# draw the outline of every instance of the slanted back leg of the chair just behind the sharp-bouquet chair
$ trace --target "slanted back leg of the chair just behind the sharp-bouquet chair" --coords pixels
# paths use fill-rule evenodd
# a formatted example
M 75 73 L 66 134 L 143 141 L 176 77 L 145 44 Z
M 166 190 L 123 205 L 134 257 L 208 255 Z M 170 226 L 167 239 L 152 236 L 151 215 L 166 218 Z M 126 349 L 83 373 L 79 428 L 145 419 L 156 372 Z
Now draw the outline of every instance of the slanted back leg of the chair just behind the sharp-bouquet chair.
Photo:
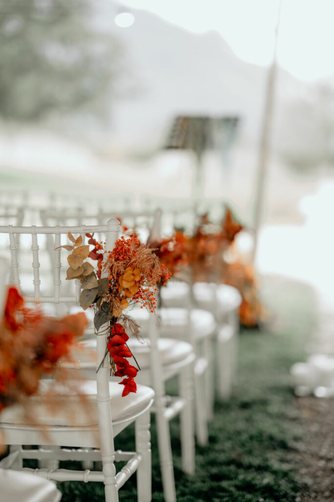
M 155 400 L 156 425 L 162 485 L 165 502 L 176 502 L 172 448 L 170 444 L 169 421 L 164 416 L 164 398 Z

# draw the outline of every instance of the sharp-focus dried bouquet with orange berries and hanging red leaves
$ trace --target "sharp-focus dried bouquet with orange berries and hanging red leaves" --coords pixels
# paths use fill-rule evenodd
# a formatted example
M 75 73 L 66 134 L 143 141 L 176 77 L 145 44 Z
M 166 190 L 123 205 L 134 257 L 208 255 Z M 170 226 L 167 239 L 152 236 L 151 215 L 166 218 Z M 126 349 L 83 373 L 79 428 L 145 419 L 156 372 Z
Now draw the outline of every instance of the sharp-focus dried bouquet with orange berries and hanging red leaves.
M 106 353 L 99 367 L 109 354 L 111 374 L 124 377 L 120 384 L 124 385 L 122 396 L 126 396 L 136 392 L 134 378 L 140 368 L 136 360 L 137 367 L 129 363 L 128 358 L 133 354 L 126 343 L 129 339 L 126 331 L 138 336 L 139 326 L 124 311 L 139 304 L 140 308 L 154 312 L 156 286 L 160 282 L 166 284 L 170 273 L 154 249 L 140 243 L 135 234 L 119 238 L 111 252 L 104 249 L 105 243 L 98 242 L 94 234 L 86 236 L 88 245 L 83 245 L 82 237 L 76 239 L 69 233 L 72 245 L 61 246 L 72 251 L 68 257 L 67 279 L 80 280 L 80 304 L 84 310 L 94 308 L 96 330 L 110 321 Z M 97 261 L 96 269 L 87 259 Z M 106 277 L 101 278 L 102 272 Z

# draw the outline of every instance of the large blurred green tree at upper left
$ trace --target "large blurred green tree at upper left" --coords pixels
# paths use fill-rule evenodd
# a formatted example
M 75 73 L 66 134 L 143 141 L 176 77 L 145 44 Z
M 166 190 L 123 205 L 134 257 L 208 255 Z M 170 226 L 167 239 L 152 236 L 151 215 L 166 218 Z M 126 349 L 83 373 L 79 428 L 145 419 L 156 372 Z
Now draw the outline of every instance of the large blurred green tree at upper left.
M 88 0 L 0 0 L 0 117 L 106 113 L 120 48 L 94 26 Z

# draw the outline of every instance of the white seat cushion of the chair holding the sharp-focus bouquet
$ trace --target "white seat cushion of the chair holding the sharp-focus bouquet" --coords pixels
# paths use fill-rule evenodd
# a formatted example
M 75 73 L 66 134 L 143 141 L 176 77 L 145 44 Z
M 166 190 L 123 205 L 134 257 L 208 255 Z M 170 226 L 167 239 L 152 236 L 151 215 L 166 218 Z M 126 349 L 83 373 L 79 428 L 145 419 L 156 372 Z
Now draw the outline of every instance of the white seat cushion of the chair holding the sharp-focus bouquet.
M 109 383 L 113 422 L 126 420 L 144 410 L 154 391 L 137 385 L 137 392 L 122 397 L 123 386 Z M 80 393 L 80 395 L 79 395 Z M 29 406 L 11 406 L 0 414 L 2 424 L 84 427 L 97 425 L 96 381 L 69 381 L 65 386 L 55 380 L 41 380 L 39 394 L 29 398 Z M 1 426 L 0 426 L 1 428 Z

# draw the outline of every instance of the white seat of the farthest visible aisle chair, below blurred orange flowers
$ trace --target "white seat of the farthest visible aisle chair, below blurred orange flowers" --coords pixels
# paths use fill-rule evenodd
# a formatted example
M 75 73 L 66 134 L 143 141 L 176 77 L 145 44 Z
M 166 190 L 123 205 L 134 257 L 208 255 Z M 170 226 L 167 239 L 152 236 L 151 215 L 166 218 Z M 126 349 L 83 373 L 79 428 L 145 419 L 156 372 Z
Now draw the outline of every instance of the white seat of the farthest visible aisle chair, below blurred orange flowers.
M 193 285 L 194 299 L 197 305 L 221 314 L 227 314 L 239 308 L 242 298 L 239 291 L 227 284 L 197 282 Z

